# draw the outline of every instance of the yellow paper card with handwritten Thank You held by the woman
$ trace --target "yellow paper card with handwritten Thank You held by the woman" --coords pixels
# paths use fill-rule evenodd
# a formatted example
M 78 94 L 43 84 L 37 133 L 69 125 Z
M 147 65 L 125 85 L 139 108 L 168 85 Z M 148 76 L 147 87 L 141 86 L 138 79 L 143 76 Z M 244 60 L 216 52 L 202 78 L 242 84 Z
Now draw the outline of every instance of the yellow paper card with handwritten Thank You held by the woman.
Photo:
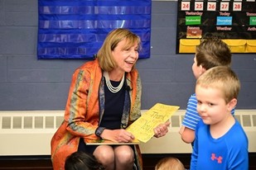
M 138 120 L 129 125 L 126 130 L 132 133 L 136 139 L 146 143 L 154 135 L 154 128 L 165 123 L 171 118 L 180 106 L 170 106 L 157 103 L 146 111 Z

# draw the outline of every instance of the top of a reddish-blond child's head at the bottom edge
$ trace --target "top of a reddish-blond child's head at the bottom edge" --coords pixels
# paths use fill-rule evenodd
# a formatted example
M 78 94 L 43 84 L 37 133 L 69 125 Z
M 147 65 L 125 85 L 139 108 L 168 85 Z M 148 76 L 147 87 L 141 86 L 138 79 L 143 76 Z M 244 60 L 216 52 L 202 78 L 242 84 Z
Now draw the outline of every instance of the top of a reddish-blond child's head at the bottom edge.
M 155 170 L 185 170 L 185 168 L 178 158 L 167 157 L 158 161 Z

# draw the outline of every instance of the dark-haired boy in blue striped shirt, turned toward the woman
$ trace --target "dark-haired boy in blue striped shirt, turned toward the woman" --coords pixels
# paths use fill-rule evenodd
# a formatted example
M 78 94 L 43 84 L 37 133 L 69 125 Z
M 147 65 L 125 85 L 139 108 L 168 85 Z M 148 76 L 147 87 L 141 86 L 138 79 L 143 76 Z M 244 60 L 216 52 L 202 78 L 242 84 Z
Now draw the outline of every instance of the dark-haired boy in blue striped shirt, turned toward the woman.
M 218 38 L 209 38 L 200 41 L 196 46 L 196 54 L 192 71 L 195 78 L 205 73 L 207 69 L 215 66 L 230 66 L 231 52 L 229 46 Z M 195 139 L 195 129 L 201 119 L 196 111 L 196 94 L 192 94 L 186 107 L 186 114 L 181 125 L 181 139 L 187 144 L 193 143 Z M 232 111 L 234 115 L 234 110 Z

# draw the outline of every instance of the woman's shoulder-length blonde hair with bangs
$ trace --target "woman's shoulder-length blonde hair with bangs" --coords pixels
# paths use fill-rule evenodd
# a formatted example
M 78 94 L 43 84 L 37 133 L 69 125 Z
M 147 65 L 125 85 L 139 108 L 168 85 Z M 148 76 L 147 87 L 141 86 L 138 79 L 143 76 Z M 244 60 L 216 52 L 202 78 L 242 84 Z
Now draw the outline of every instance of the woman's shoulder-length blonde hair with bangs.
M 99 66 L 104 71 L 111 71 L 112 69 L 116 68 L 117 64 L 112 56 L 112 51 L 122 40 L 126 40 L 126 45 L 123 47 L 123 49 L 129 49 L 134 45 L 134 43 L 138 43 L 138 49 L 141 49 L 140 37 L 135 35 L 133 32 L 123 28 L 118 28 L 109 32 L 109 35 L 107 35 L 106 39 L 104 40 L 104 44 L 101 46 L 97 54 Z

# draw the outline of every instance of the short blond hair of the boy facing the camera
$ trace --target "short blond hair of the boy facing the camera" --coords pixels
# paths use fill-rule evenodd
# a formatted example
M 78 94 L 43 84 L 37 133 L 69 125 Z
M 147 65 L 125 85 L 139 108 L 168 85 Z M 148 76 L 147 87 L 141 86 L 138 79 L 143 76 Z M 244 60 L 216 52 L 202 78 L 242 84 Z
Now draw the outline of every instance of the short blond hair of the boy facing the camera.
M 224 94 L 226 103 L 239 96 L 240 82 L 234 71 L 226 66 L 210 68 L 196 81 L 196 86 L 214 87 L 220 89 Z

